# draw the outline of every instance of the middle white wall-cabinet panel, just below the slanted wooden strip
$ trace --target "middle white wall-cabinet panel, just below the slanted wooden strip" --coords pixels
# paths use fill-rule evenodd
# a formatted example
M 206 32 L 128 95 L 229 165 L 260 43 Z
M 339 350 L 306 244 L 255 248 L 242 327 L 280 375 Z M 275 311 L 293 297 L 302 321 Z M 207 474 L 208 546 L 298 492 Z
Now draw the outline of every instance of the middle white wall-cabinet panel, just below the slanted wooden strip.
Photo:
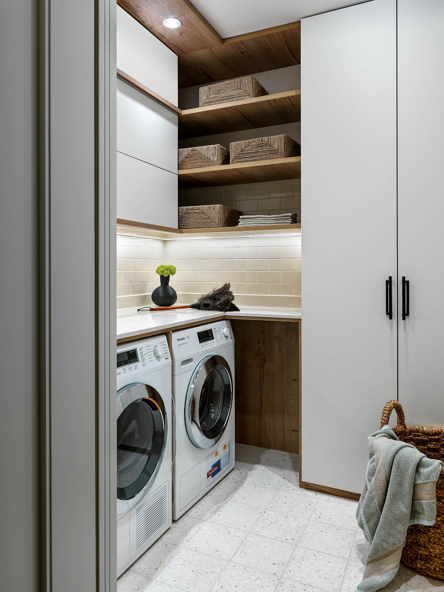
M 177 173 L 178 116 L 117 81 L 117 150 Z

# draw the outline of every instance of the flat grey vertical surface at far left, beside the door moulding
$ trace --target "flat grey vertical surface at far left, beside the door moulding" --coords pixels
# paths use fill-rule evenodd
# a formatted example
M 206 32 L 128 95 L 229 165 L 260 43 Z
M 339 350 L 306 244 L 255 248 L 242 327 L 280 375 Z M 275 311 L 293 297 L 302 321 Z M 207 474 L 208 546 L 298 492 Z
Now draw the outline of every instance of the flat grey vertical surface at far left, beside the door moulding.
M 0 18 L 0 588 L 38 590 L 37 4 Z

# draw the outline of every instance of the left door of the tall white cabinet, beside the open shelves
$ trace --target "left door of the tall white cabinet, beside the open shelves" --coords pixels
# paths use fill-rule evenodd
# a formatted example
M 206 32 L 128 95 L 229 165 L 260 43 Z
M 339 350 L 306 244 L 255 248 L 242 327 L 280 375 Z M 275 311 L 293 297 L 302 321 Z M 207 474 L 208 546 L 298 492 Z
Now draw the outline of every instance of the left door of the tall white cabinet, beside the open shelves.
M 396 1 L 303 19 L 301 43 L 301 477 L 360 493 L 397 395 Z

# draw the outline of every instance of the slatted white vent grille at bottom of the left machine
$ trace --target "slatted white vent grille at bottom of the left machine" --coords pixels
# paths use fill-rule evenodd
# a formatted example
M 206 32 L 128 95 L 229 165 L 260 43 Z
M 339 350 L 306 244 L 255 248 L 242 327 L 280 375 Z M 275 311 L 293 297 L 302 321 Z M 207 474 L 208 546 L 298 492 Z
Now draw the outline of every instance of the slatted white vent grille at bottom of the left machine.
M 136 511 L 136 549 L 168 523 L 168 483 L 154 493 Z

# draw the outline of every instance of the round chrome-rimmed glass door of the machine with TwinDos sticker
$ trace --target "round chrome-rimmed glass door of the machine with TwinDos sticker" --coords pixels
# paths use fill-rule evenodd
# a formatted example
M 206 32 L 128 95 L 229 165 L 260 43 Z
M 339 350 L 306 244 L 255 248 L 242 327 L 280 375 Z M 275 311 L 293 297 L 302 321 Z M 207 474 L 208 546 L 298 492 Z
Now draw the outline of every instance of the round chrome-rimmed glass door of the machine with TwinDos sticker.
M 208 355 L 198 363 L 185 397 L 185 426 L 198 448 L 211 448 L 220 440 L 230 419 L 233 379 L 225 358 Z

